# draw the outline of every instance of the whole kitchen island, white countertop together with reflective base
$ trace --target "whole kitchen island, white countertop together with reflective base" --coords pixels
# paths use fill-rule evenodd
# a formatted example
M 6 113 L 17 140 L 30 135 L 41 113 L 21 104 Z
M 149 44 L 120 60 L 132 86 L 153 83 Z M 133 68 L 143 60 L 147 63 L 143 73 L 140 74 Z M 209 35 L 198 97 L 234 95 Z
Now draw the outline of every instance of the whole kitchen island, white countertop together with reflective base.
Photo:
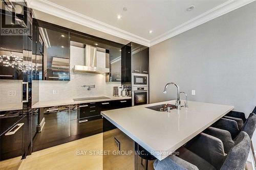
M 137 151 L 138 145 L 162 160 L 233 109 L 233 106 L 193 101 L 188 101 L 188 107 L 170 112 L 146 108 L 166 103 L 175 104 L 175 101 L 101 112 L 103 150 L 110 152 L 103 156 L 104 169 L 120 166 L 140 169 L 138 155 L 127 154 Z M 118 155 L 113 151 L 126 153 Z

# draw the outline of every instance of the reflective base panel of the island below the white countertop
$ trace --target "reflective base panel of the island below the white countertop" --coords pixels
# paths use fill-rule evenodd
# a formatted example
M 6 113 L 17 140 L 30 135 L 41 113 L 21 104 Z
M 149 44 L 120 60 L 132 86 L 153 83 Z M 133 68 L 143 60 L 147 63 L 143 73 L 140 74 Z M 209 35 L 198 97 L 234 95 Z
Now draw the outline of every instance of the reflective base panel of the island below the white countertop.
M 103 117 L 103 170 L 145 169 L 146 161 L 141 161 L 137 148 L 133 139 Z M 148 170 L 154 169 L 153 162 L 148 161 Z

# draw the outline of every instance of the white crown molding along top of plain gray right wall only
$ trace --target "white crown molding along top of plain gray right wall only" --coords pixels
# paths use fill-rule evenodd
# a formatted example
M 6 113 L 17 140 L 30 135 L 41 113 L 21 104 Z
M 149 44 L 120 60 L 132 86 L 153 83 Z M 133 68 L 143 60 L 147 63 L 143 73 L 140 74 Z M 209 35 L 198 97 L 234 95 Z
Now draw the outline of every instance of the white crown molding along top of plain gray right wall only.
M 255 0 L 230 0 L 230 1 L 227 1 L 227 2 L 217 6 L 215 8 L 212 8 L 211 10 L 209 10 L 193 19 L 190 19 L 189 21 L 183 23 L 182 25 L 180 25 L 172 30 L 169 30 L 169 31 L 165 32 L 164 34 L 152 39 L 150 41 L 150 46 L 153 46 L 153 45 L 155 45 L 159 42 L 162 42 L 166 39 L 172 38 L 178 34 L 181 34 L 185 31 L 187 31 L 187 30 L 193 29 L 209 20 L 217 18 L 221 15 L 224 15 L 228 12 L 236 10 L 240 7 L 243 7 L 253 1 L 255 1 Z

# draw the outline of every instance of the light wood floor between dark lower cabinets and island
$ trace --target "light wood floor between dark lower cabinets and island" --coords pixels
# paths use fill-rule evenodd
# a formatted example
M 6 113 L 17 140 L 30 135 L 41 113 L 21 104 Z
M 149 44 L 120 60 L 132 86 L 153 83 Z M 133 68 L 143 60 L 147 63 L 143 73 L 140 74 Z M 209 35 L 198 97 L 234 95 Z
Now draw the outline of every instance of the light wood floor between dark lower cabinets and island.
M 102 151 L 102 133 L 33 152 L 18 170 L 102 169 L 102 156 L 77 155 L 77 151 Z

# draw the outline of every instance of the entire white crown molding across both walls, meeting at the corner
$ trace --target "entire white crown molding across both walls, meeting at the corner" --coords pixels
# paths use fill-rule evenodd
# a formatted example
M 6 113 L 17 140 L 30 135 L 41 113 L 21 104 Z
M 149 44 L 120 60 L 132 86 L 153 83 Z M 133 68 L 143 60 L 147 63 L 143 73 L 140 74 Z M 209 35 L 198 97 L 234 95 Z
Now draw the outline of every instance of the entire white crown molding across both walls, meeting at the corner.
M 132 33 L 123 31 L 116 27 L 110 26 L 104 22 L 82 15 L 80 13 L 61 7 L 59 5 L 56 5 L 46 0 L 28 0 L 28 5 L 32 9 L 36 9 L 41 12 L 45 12 L 63 19 L 67 19 L 69 21 L 78 23 L 80 25 L 83 25 L 83 26 L 116 36 L 116 37 L 120 37 L 120 38 L 129 40 L 135 43 L 139 43 L 145 46 L 153 46 L 159 42 L 172 38 L 187 30 L 193 29 L 209 20 L 215 19 L 221 15 L 224 15 L 228 12 L 231 12 L 240 7 L 243 7 L 253 1 L 256 1 L 256 0 L 229 0 L 193 19 L 188 20 L 185 23 L 182 23 L 182 25 L 167 31 L 164 34 L 152 40 L 147 40 L 145 38 L 134 35 Z

